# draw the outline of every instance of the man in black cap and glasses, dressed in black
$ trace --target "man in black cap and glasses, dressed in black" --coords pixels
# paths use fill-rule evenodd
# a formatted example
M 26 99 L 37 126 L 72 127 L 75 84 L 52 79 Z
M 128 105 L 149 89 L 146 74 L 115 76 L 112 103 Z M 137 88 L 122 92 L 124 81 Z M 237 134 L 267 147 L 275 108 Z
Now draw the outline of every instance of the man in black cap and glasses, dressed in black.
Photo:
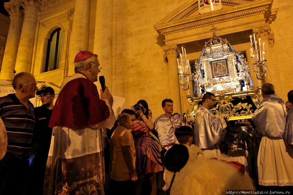
M 53 112 L 55 91 L 52 87 L 44 86 L 36 92 L 42 106 L 34 109 L 35 125 L 31 154 L 31 194 L 43 194 L 44 176 L 48 158 L 52 127 L 48 127 Z

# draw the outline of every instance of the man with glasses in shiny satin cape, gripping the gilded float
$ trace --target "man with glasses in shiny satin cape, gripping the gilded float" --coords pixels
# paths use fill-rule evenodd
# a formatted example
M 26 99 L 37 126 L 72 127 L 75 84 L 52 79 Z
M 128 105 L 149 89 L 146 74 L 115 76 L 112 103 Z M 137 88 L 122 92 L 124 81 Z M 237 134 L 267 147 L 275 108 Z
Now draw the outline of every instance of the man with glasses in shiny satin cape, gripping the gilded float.
M 215 106 L 215 101 L 214 94 L 205 93 L 202 97 L 202 105 L 197 108 L 195 114 L 194 140 L 197 147 L 203 150 L 206 158 L 220 156 L 219 143 L 223 130 L 227 127 L 224 114 L 216 116 L 210 111 Z

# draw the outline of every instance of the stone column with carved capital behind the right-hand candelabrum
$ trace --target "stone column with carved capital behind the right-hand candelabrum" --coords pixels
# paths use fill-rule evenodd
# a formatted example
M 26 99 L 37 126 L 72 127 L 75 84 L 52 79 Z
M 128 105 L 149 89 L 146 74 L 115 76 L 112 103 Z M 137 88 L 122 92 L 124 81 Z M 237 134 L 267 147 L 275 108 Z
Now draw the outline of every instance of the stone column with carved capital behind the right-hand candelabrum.
M 266 24 L 262 27 L 253 28 L 253 33 L 255 33 L 255 38 L 257 41 L 259 38 L 261 39 L 261 44 L 265 43 L 265 59 L 266 61 L 266 79 L 263 80 L 263 83 L 272 83 L 275 88 L 277 88 L 277 84 L 280 82 L 279 74 L 277 73 L 277 67 L 273 67 L 274 59 L 272 58 L 271 49 L 274 45 L 275 34 L 271 33 L 271 27 Z M 262 49 L 262 45 L 261 45 Z M 263 50 L 263 49 L 262 49 Z

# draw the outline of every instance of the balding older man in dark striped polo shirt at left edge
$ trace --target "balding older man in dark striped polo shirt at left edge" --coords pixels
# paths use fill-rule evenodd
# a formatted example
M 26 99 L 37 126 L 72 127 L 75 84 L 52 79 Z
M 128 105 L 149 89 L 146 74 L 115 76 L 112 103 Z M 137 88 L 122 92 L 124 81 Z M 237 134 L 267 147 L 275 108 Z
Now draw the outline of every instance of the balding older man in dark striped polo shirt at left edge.
M 37 82 L 30 73 L 15 75 L 15 94 L 0 98 L 0 116 L 7 131 L 5 157 L 0 161 L 0 194 L 26 194 L 29 153 L 34 129 L 34 98 Z

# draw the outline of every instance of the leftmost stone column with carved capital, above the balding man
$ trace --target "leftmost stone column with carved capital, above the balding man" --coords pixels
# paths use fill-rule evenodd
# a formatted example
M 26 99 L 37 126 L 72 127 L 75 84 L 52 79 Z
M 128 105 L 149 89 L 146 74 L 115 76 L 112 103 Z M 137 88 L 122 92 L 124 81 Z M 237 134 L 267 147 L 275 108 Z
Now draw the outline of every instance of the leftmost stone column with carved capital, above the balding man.
M 4 4 L 4 7 L 9 13 L 10 25 L 2 61 L 0 79 L 13 79 L 12 71 L 15 68 L 24 12 L 19 9 L 19 3 L 7 2 Z

